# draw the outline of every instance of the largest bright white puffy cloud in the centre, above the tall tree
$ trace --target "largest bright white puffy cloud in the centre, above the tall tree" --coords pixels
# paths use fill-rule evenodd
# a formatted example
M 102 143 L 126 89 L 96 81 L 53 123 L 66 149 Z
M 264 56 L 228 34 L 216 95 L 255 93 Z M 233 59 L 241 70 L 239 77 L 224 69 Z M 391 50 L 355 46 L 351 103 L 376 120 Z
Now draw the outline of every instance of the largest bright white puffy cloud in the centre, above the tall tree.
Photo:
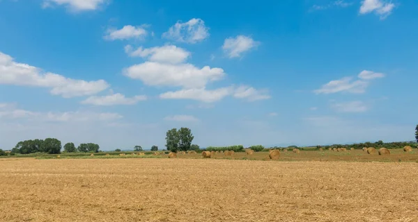
M 125 69 L 125 76 L 139 79 L 146 85 L 180 86 L 189 88 L 205 87 L 208 82 L 224 78 L 223 69 L 208 66 L 199 69 L 191 64 L 163 64 L 144 62 Z

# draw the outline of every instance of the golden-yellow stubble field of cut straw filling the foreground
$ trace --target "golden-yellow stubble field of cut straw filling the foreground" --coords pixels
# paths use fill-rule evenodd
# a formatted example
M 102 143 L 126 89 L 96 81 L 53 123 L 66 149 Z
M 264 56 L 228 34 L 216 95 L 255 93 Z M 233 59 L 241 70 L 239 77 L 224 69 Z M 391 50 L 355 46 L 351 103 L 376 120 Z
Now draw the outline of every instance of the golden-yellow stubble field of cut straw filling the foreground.
M 418 221 L 416 162 L 0 159 L 0 221 Z

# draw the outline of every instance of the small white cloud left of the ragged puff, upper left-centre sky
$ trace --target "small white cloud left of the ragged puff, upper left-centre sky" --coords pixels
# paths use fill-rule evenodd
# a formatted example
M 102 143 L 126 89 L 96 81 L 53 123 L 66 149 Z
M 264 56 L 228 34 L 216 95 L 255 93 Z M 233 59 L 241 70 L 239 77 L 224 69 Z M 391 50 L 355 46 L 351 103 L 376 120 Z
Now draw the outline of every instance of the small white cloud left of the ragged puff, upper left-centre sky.
M 107 29 L 107 35 L 104 36 L 105 40 L 129 40 L 132 38 L 142 38 L 148 35 L 148 31 L 145 29 L 146 25 L 142 26 L 123 26 L 121 29 L 109 28 Z

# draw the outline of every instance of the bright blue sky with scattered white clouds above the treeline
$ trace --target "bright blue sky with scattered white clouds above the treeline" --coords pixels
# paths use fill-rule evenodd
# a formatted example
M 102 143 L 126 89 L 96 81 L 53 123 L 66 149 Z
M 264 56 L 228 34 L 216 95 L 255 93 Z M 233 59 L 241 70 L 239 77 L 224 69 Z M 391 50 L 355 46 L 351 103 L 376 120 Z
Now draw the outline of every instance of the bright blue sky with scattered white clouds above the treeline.
M 0 146 L 414 139 L 416 1 L 0 0 Z

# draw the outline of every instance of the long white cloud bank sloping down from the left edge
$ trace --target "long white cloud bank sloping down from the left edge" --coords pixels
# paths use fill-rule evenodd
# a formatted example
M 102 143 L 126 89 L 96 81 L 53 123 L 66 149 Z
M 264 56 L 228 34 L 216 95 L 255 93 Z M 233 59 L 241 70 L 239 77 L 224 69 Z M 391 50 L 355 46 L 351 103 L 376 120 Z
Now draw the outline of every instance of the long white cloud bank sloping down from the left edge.
M 41 69 L 24 63 L 0 52 L 0 85 L 26 85 L 51 88 L 51 94 L 65 98 L 90 96 L 109 87 L 104 80 L 86 81 L 65 78 L 59 74 L 43 73 Z

